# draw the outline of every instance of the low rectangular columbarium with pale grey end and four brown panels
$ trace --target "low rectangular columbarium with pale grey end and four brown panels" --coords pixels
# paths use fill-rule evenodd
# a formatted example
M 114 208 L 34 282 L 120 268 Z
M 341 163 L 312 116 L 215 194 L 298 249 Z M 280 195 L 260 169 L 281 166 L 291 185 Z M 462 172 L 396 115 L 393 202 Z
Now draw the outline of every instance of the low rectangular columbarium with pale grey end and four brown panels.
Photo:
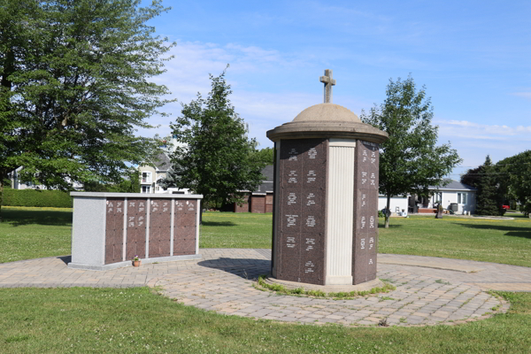
M 200 259 L 201 195 L 72 192 L 70 268 Z

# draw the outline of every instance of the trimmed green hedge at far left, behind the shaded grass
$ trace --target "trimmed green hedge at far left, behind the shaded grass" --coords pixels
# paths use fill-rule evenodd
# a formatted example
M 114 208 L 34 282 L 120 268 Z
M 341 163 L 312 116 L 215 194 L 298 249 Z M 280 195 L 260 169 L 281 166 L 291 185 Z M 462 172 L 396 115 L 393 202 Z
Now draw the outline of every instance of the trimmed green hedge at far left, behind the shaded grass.
M 60 190 L 4 189 L 2 205 L 72 208 L 72 196 Z

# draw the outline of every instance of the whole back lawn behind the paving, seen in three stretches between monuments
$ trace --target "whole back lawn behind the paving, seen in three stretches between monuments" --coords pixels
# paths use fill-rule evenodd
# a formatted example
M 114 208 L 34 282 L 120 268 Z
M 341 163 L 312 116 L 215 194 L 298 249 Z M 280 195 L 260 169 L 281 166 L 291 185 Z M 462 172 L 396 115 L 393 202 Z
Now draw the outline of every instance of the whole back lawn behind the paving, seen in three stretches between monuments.
M 62 256 L 71 251 L 72 211 L 3 207 L 0 263 Z M 531 266 L 531 220 L 392 218 L 383 228 L 381 253 L 473 259 Z M 205 212 L 201 248 L 271 248 L 271 214 Z

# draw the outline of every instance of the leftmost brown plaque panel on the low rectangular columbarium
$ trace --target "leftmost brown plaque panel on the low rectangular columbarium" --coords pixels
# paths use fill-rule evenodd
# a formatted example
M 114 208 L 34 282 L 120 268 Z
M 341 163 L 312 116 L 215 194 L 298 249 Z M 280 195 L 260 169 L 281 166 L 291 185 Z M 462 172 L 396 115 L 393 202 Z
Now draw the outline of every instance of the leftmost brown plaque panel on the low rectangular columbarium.
M 124 247 L 124 199 L 106 202 L 105 264 L 121 262 Z

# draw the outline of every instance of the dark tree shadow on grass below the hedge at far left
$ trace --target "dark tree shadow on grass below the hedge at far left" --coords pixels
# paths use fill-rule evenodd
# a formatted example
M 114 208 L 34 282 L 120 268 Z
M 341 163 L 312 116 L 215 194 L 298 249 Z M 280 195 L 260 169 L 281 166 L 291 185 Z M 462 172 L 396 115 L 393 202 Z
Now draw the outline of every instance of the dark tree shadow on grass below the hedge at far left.
M 23 225 L 51 225 L 58 227 L 72 226 L 72 212 L 63 211 L 28 211 L 2 209 L 2 219 L 13 227 Z

